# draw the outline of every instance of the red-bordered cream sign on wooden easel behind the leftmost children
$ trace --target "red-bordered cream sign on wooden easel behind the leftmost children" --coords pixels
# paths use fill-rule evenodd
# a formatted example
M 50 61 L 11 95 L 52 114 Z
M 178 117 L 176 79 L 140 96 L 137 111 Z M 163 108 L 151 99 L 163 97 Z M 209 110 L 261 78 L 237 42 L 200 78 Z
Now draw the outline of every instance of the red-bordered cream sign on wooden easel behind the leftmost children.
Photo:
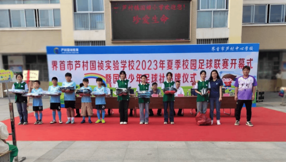
M 39 79 L 39 70 L 23 70 L 23 80 L 28 83 L 29 93 L 32 91 L 33 85 L 32 81 Z M 30 97 L 27 97 L 27 108 L 33 106 L 33 103 L 30 102 Z M 29 109 L 28 109 L 29 110 Z

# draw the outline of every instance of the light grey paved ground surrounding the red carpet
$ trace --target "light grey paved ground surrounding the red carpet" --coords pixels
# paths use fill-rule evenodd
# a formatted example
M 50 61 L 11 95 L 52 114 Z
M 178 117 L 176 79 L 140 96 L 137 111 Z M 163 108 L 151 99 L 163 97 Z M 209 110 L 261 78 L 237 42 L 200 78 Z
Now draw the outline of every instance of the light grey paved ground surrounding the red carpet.
M 257 106 L 286 113 L 281 102 L 278 93 L 268 92 Z M 43 104 L 49 107 L 49 99 Z M 8 98 L 0 99 L 0 106 L 0 121 L 8 119 Z M 18 116 L 15 104 L 14 113 Z M 27 158 L 24 162 L 286 161 L 286 142 L 17 141 L 17 145 L 19 158 Z

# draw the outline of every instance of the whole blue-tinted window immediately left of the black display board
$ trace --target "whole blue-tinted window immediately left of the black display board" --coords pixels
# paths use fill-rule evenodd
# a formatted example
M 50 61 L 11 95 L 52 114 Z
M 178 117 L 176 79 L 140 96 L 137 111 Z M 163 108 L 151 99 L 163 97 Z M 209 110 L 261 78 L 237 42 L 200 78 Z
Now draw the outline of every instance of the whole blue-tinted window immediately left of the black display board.
M 103 0 L 75 0 L 75 30 L 104 29 Z

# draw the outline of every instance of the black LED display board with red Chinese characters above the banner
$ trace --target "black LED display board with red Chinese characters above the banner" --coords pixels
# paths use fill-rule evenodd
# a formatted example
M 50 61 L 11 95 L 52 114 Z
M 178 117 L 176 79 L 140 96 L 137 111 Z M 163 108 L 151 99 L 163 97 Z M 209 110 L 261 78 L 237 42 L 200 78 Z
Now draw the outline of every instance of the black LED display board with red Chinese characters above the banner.
M 112 40 L 190 40 L 190 0 L 111 1 Z

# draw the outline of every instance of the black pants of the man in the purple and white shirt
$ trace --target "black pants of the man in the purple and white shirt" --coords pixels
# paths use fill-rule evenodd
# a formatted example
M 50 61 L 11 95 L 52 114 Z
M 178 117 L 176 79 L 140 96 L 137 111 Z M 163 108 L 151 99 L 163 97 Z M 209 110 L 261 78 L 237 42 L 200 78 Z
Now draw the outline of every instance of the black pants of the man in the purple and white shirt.
M 236 108 L 235 108 L 235 119 L 240 121 L 240 113 L 243 104 L 245 104 L 246 107 L 246 119 L 247 122 L 251 120 L 251 106 L 252 106 L 252 100 L 237 100 Z

